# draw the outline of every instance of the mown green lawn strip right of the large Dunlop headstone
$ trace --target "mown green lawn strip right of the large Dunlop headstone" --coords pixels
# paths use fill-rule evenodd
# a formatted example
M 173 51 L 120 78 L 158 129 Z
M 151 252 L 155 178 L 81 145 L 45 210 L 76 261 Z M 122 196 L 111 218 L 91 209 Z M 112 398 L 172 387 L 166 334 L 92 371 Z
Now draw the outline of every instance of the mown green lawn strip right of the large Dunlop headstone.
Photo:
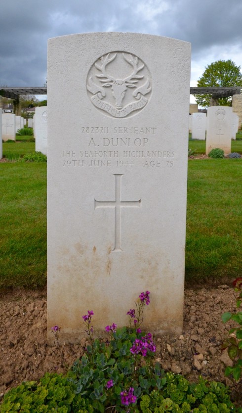
M 189 160 L 187 279 L 241 275 L 241 176 L 242 159 Z

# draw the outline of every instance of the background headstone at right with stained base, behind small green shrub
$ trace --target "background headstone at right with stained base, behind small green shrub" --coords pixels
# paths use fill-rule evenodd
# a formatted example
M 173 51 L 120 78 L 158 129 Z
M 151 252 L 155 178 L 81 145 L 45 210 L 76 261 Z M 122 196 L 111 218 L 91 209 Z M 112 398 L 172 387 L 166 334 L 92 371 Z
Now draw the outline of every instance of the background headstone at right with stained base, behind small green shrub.
M 210 106 L 207 109 L 206 154 L 213 148 L 231 152 L 232 107 Z

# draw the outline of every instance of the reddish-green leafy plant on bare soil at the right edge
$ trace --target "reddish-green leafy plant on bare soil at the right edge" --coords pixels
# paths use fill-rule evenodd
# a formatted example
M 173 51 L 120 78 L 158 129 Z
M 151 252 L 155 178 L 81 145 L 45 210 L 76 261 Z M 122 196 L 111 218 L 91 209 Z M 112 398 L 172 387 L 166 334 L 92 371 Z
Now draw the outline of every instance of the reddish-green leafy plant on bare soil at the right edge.
M 242 303 L 242 277 L 236 278 L 233 281 L 233 286 L 236 292 L 239 292 L 236 306 L 240 308 Z M 222 344 L 222 350 L 228 349 L 228 355 L 234 362 L 233 367 L 226 367 L 225 375 L 229 376 L 233 374 L 236 381 L 242 377 L 242 311 L 235 313 L 224 313 L 222 315 L 223 322 L 233 320 L 240 326 L 237 328 L 231 328 L 229 331 L 230 337 L 228 337 Z

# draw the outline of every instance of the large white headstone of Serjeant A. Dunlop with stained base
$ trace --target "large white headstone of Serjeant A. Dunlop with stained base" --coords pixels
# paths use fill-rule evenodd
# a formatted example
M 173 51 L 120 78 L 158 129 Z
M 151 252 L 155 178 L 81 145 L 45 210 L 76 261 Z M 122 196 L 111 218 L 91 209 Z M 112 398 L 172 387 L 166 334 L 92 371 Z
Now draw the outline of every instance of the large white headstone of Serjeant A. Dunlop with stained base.
M 146 290 L 149 331 L 182 331 L 189 94 L 189 43 L 49 39 L 49 339 L 79 340 L 87 310 L 127 325 Z

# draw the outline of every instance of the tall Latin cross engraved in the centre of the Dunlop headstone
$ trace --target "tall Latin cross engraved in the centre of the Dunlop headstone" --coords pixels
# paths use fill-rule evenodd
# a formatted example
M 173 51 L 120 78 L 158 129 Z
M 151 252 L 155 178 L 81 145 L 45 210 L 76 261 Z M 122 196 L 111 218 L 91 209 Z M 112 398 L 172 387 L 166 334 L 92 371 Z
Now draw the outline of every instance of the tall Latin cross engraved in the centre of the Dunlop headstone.
M 115 235 L 114 249 L 112 251 L 122 251 L 121 249 L 121 208 L 140 208 L 141 199 L 138 201 L 121 201 L 121 179 L 123 174 L 114 174 L 115 176 L 115 201 L 97 201 L 96 208 L 115 208 Z

